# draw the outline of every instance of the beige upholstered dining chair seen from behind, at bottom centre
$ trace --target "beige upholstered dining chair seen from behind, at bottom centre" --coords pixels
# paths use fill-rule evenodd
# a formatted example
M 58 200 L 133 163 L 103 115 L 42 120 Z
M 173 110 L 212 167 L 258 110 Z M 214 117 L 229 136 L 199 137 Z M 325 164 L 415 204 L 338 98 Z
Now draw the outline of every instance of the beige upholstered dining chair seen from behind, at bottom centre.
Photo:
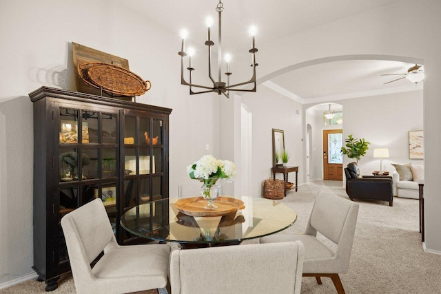
M 300 293 L 301 242 L 172 251 L 173 294 Z

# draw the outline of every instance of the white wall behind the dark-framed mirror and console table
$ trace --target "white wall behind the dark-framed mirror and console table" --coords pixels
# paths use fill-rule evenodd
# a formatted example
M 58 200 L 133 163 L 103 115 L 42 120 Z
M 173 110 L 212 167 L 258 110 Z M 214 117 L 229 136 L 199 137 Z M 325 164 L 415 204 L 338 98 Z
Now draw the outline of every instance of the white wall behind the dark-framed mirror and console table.
M 272 129 L 282 129 L 290 166 L 299 167 L 298 183 L 304 182 L 302 105 L 260 85 L 256 93 L 242 96 L 242 103 L 252 112 L 252 196 L 263 196 L 263 181 L 272 177 Z M 277 174 L 283 179 L 283 174 Z M 289 174 L 295 180 L 295 174 Z

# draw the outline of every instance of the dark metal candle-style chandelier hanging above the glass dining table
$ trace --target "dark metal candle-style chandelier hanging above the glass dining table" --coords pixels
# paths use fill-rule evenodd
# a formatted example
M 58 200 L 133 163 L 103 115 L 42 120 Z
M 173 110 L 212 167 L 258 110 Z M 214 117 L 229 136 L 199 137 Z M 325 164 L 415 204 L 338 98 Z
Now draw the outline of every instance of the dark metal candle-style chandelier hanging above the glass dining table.
M 231 56 L 226 55 L 225 56 L 225 63 L 226 63 L 226 72 L 224 73 L 226 78 L 225 81 L 222 81 L 222 12 L 223 12 L 223 3 L 219 0 L 218 5 L 216 6 L 216 11 L 218 12 L 218 80 L 215 81 L 212 75 L 212 46 L 214 45 L 214 42 L 211 39 L 211 32 L 210 28 L 212 25 L 212 21 L 207 21 L 207 27 L 208 27 L 208 39 L 205 41 L 205 45 L 208 47 L 208 76 L 209 79 L 212 81 L 213 85 L 206 86 L 206 85 L 197 85 L 194 84 L 192 81 L 192 72 L 195 70 L 192 63 L 192 50 L 189 49 L 189 52 L 185 52 L 185 38 L 187 37 L 187 32 L 183 30 L 182 32 L 182 45 L 181 45 L 181 51 L 178 52 L 178 54 L 181 56 L 181 84 L 189 86 L 189 93 L 190 95 L 193 94 L 203 94 L 203 93 L 209 93 L 209 92 L 215 92 L 217 94 L 224 94 L 227 98 L 229 98 L 229 91 L 240 91 L 240 92 L 256 92 L 256 66 L 258 63 L 256 63 L 256 52 L 258 51 L 257 48 L 254 45 L 254 39 L 256 30 L 252 30 L 252 48 L 248 50 L 249 53 L 252 54 L 252 78 L 249 81 L 245 81 L 243 83 L 236 83 L 234 85 L 229 84 L 229 76 L 232 75 L 232 72 L 229 70 L 229 61 L 231 59 Z M 187 67 L 187 70 L 189 72 L 189 82 L 185 81 L 184 78 L 184 57 L 189 56 L 189 66 Z M 243 88 L 238 88 L 239 86 L 253 84 L 253 88 L 251 90 L 245 90 Z M 193 87 L 201 88 L 205 90 L 201 90 L 200 92 L 193 92 Z

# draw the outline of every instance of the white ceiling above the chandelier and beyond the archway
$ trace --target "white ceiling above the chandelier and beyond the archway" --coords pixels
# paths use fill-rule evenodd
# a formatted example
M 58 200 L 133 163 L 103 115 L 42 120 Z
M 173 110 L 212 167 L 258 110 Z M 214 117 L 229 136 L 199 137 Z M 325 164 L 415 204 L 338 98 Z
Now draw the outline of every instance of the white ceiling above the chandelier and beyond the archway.
M 203 44 L 207 39 L 205 19 L 211 16 L 215 23 L 212 36 L 216 42 L 217 0 L 120 1 L 121 5 L 132 7 L 141 16 L 148 17 L 176 34 L 178 44 L 182 28 L 189 32 L 187 43 Z M 223 50 L 225 52 L 227 48 L 233 56 L 234 52 L 241 52 L 244 48 L 247 50 L 250 45 L 248 29 L 251 25 L 258 28 L 258 48 L 259 43 L 271 42 L 395 1 L 398 0 L 223 0 Z M 176 48 L 176 52 L 179 49 Z M 380 74 L 406 73 L 412 65 L 398 61 L 335 61 L 276 76 L 264 85 L 301 103 L 421 89 L 422 83 L 415 85 L 405 78 L 383 85 L 401 76 Z

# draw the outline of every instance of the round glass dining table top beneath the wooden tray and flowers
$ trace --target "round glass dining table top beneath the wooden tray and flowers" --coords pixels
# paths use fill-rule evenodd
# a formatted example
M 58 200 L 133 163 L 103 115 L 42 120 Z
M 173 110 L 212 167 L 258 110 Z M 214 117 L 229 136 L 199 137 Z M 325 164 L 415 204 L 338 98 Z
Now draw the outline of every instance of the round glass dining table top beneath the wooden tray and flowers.
M 296 222 L 296 212 L 277 200 L 234 198 L 242 200 L 245 208 L 208 217 L 189 216 L 176 209 L 178 198 L 156 200 L 127 210 L 121 217 L 121 226 L 133 235 L 178 242 L 183 249 L 190 249 L 240 244 L 243 240 L 283 231 Z

